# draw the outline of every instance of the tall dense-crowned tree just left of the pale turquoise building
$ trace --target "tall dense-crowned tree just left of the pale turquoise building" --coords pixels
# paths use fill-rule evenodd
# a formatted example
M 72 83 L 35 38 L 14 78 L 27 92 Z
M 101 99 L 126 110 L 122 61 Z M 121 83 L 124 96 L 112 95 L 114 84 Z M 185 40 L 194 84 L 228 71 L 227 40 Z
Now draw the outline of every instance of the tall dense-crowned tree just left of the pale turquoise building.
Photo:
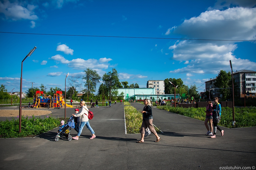
M 105 73 L 102 77 L 102 81 L 109 90 L 111 100 L 111 91 L 117 89 L 117 85 L 120 83 L 116 69 L 113 68 L 112 72 Z

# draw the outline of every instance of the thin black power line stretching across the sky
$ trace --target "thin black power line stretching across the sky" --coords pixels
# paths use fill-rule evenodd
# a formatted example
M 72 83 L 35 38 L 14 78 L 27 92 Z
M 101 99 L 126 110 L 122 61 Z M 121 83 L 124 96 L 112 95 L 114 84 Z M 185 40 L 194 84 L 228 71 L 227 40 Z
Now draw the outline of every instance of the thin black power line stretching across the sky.
M 251 41 L 251 42 L 256 42 L 256 40 L 212 40 L 212 39 L 192 39 L 192 38 L 159 38 L 159 37 L 126 37 L 126 36 L 105 36 L 105 35 L 40 34 L 40 33 L 21 33 L 21 32 L 0 32 L 0 33 L 29 34 L 29 35 L 84 36 L 84 37 L 112 37 L 112 38 L 147 38 L 147 39 L 165 39 L 165 40 Z

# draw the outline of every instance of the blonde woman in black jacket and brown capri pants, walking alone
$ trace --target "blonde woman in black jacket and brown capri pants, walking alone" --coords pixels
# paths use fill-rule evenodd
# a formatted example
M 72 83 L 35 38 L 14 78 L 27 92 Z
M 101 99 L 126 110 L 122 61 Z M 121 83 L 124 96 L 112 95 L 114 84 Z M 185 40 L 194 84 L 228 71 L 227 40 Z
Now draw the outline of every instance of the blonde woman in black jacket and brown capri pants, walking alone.
M 145 136 L 145 129 L 148 127 L 150 129 L 150 132 L 153 133 L 156 136 L 156 141 L 160 141 L 160 137 L 157 135 L 155 127 L 153 126 L 153 116 L 152 116 L 152 109 L 151 109 L 151 102 L 148 99 L 144 99 L 145 107 L 142 113 L 142 125 L 141 125 L 141 140 L 137 141 L 137 143 L 144 142 L 144 136 Z

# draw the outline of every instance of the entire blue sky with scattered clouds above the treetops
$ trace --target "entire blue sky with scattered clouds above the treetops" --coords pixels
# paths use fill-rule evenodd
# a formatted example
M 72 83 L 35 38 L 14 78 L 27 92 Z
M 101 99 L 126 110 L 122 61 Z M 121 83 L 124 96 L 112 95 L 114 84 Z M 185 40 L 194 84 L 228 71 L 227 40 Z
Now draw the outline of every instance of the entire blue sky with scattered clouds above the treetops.
M 140 87 L 166 78 L 199 87 L 221 69 L 231 71 L 229 60 L 233 71 L 256 69 L 255 7 L 255 1 L 240 0 L 1 0 L 0 32 L 250 41 L 0 33 L 0 84 L 19 91 L 21 62 L 36 46 L 23 62 L 23 91 L 30 82 L 64 89 L 68 72 L 83 76 L 88 67 L 101 76 L 115 68 L 120 82 Z

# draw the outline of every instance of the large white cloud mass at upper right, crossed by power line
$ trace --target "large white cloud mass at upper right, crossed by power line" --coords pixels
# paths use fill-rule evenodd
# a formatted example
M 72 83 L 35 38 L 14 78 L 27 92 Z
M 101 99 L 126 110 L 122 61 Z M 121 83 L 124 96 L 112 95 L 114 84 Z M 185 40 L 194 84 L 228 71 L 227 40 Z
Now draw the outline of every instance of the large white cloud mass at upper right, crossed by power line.
M 202 12 L 198 17 L 185 20 L 174 33 L 188 38 L 255 40 L 256 8 L 229 8 Z M 169 46 L 173 59 L 185 61 L 186 67 L 171 73 L 218 74 L 219 70 L 230 70 L 229 60 L 236 70 L 255 69 L 255 62 L 233 55 L 239 43 L 227 41 L 176 41 Z

